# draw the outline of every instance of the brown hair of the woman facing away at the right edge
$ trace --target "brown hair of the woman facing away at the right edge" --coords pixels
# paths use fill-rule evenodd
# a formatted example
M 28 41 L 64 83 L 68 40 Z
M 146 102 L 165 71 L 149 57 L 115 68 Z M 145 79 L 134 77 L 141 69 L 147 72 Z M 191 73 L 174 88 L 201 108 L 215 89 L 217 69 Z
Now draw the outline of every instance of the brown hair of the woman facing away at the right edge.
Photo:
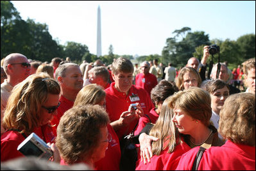
M 218 131 L 234 143 L 255 146 L 255 94 L 230 95 L 219 113 Z

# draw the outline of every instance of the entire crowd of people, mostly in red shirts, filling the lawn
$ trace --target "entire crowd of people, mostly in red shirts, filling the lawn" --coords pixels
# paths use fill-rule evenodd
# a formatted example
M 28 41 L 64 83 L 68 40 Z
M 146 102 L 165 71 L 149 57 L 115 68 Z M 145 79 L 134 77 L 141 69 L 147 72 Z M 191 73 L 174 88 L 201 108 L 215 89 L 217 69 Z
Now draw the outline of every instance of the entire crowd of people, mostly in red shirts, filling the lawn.
M 35 133 L 56 169 L 255 170 L 255 58 L 207 73 L 209 55 L 205 46 L 201 61 L 176 70 L 157 59 L 119 57 L 107 67 L 9 54 L 1 61 L 1 168 L 30 159 L 17 147 Z

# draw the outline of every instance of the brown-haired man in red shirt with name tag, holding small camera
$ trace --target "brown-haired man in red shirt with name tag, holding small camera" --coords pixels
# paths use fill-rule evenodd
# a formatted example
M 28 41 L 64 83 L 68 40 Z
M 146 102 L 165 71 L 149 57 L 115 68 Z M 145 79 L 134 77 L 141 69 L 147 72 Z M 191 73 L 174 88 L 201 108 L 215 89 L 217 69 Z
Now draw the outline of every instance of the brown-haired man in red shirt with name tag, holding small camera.
M 139 115 L 149 113 L 154 105 L 144 88 L 132 84 L 133 65 L 130 60 L 123 57 L 115 60 L 112 64 L 112 77 L 115 82 L 105 90 L 106 106 L 111 126 L 117 136 L 122 138 L 137 126 Z M 132 103 L 139 104 L 135 115 L 128 111 Z

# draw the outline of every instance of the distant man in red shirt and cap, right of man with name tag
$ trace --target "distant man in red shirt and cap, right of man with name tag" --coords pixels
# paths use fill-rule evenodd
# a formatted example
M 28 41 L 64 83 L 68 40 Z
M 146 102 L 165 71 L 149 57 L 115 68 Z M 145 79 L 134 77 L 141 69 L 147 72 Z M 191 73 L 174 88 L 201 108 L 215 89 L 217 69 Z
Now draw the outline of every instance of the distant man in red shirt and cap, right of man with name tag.
M 141 63 L 142 73 L 137 74 L 135 77 L 135 85 L 142 86 L 150 95 L 152 88 L 157 85 L 157 77 L 149 73 L 149 67 L 148 61 Z

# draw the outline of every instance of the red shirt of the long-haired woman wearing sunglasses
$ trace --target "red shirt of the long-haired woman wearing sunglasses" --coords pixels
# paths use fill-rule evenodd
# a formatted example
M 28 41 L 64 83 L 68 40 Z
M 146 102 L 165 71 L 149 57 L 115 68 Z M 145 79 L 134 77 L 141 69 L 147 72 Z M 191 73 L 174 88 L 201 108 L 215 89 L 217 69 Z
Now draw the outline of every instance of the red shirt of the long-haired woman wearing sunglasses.
M 34 129 L 33 133 L 37 134 L 44 142 L 53 143 L 55 136 L 53 135 L 52 127 L 45 125 Z M 29 136 L 29 134 L 25 134 Z M 17 151 L 17 147 L 25 140 L 24 136 L 18 131 L 6 131 L 1 135 L 1 161 L 24 157 Z

